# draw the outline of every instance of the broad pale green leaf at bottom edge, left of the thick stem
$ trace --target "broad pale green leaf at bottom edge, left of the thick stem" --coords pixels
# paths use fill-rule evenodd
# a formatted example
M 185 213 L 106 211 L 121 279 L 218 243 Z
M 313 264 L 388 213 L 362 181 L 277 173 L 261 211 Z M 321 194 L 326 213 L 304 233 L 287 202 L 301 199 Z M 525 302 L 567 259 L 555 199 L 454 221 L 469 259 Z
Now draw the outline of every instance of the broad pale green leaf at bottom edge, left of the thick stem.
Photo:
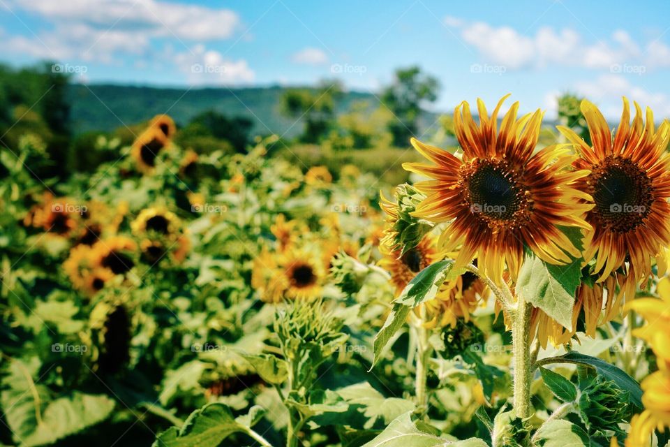
M 410 418 L 411 412 L 395 418 L 375 439 L 363 447 L 486 447 L 482 439 L 449 442 L 433 434 L 422 432 Z

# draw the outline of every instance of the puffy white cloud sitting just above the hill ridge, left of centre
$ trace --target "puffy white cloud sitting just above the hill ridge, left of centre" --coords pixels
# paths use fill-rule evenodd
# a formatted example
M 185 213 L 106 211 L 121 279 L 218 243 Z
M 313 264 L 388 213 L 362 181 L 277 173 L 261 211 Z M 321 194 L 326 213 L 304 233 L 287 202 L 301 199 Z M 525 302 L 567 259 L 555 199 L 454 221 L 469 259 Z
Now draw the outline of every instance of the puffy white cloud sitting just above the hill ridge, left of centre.
M 244 59 L 225 59 L 221 52 L 207 50 L 204 45 L 195 45 L 193 52 L 174 54 L 174 63 L 190 85 L 248 84 L 255 79 Z

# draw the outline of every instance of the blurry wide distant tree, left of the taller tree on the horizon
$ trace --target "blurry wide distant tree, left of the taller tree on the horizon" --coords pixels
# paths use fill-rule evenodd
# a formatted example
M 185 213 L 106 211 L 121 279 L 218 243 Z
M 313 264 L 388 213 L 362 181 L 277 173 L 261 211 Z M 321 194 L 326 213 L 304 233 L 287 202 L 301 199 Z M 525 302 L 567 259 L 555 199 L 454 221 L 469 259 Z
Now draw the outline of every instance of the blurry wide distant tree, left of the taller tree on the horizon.
M 319 142 L 334 124 L 341 93 L 338 82 L 322 82 L 317 89 L 289 89 L 281 98 L 281 109 L 288 117 L 303 120 L 302 141 Z

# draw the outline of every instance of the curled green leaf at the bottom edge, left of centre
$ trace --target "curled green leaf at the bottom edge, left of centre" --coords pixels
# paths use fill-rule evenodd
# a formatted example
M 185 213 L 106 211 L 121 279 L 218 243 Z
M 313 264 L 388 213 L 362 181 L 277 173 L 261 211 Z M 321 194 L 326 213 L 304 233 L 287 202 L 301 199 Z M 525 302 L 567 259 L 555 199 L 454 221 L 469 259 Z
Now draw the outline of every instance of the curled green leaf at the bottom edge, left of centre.
M 152 447 L 218 447 L 231 434 L 248 432 L 246 422 L 258 416 L 255 407 L 252 407 L 250 414 L 236 420 L 228 406 L 218 402 L 207 404 L 193 411 L 181 429 L 170 427 L 158 434 Z

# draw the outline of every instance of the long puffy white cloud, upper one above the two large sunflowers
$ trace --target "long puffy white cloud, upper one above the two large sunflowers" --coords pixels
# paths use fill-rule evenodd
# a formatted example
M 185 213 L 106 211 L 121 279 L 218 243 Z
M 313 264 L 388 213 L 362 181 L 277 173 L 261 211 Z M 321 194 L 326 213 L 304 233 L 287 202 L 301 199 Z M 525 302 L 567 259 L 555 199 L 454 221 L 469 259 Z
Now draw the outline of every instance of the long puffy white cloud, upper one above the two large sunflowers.
M 623 64 L 670 66 L 670 47 L 655 41 L 642 52 L 641 45 L 620 29 L 609 39 L 587 44 L 577 31 L 568 28 L 542 27 L 535 34 L 524 35 L 511 27 L 467 23 L 456 17 L 445 17 L 445 23 L 458 28 L 463 41 L 475 47 L 486 61 L 509 69 L 550 64 L 586 68 Z

